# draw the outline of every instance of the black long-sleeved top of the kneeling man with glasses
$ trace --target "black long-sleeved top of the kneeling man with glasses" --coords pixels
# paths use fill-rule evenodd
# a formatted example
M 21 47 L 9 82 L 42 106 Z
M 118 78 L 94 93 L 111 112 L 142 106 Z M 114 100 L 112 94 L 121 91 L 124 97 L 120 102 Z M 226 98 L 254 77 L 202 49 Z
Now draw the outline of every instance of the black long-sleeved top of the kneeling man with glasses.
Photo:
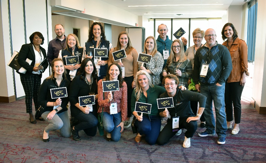
M 167 98 L 169 97 L 167 92 L 165 91 L 163 94 L 160 95 L 160 98 Z M 190 101 L 199 101 L 200 107 L 205 108 L 206 99 L 204 95 L 197 92 L 192 92 L 189 90 L 182 91 L 181 89 L 176 89 L 176 95 L 173 97 L 174 106 L 172 108 L 167 108 L 170 116 L 175 117 L 179 116 L 180 119 L 185 117 L 194 117 L 194 113 L 190 108 Z M 159 112 L 163 112 L 165 109 L 159 109 Z

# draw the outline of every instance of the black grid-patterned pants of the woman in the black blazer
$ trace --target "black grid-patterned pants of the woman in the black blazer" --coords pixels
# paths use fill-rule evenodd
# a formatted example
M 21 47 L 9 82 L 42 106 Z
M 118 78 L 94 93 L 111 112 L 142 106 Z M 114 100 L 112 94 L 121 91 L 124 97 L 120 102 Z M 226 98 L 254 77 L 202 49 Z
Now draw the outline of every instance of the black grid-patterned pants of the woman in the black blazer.
M 20 76 L 20 81 L 25 92 L 26 112 L 32 113 L 32 99 L 35 111 L 39 109 L 38 93 L 41 85 L 41 77 L 39 74 L 31 74 L 29 78 Z

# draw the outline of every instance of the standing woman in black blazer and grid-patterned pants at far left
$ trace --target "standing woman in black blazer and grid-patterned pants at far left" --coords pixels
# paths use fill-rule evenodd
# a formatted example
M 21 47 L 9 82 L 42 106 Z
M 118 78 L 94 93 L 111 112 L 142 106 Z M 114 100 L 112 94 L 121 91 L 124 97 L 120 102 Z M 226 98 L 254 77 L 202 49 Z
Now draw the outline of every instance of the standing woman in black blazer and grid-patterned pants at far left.
M 40 45 L 44 43 L 44 37 L 40 32 L 34 32 L 30 35 L 29 44 L 22 45 L 18 63 L 27 71 L 25 74 L 20 74 L 20 81 L 25 92 L 26 111 L 30 115 L 30 122 L 36 123 L 32 114 L 32 98 L 35 106 L 35 111 L 40 107 L 38 104 L 38 92 L 41 85 L 42 72 L 48 67 L 47 60 L 38 67 L 40 62 L 46 58 L 46 51 Z M 44 120 L 39 118 L 39 120 Z

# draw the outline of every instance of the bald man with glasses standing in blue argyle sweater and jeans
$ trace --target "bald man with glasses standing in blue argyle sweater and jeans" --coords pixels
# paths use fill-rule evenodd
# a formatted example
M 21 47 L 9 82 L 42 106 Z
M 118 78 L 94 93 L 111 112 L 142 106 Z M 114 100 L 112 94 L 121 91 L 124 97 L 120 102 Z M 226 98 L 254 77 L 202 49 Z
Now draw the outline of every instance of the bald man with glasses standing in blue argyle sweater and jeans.
M 225 114 L 225 82 L 232 70 L 232 60 L 228 49 L 218 44 L 214 29 L 207 29 L 204 36 L 206 43 L 196 52 L 194 59 L 193 79 L 198 92 L 207 97 L 204 116 L 206 130 L 198 136 L 214 136 L 216 114 L 216 133 L 218 144 L 225 144 L 226 114 Z M 200 85 L 199 85 L 200 83 Z

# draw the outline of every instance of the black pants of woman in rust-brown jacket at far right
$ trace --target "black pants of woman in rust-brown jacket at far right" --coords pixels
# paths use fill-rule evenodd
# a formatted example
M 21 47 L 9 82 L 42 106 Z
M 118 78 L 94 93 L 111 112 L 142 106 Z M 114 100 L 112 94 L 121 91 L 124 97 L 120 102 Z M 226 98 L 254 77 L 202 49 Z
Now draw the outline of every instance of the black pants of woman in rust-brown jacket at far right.
M 233 120 L 233 106 L 235 123 L 239 124 L 241 119 L 241 95 L 243 88 L 239 82 L 225 83 L 225 112 L 226 121 Z

